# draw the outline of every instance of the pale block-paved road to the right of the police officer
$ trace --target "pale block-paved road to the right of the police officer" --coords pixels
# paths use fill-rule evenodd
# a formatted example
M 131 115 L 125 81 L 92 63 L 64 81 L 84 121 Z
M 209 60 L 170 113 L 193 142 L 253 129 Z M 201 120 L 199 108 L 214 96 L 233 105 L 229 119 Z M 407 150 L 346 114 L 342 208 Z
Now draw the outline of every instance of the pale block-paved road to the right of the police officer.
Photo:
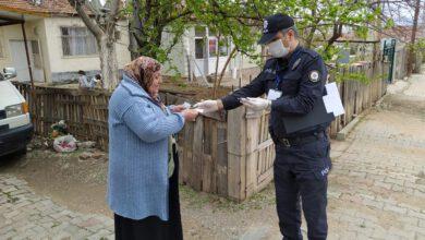
M 425 76 L 414 75 L 333 144 L 332 239 L 425 239 L 424 123 Z

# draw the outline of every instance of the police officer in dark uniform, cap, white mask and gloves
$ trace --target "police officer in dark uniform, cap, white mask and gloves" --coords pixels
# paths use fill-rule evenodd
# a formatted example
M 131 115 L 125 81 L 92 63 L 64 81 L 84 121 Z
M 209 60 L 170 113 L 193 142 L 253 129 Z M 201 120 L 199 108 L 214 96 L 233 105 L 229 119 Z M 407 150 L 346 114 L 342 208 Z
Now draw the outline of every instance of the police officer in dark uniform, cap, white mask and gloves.
M 308 239 L 326 239 L 327 175 L 331 163 L 325 131 L 329 122 L 289 134 L 282 121 L 307 115 L 326 94 L 324 60 L 300 46 L 294 21 L 286 14 L 266 17 L 258 44 L 266 45 L 272 57 L 259 75 L 221 99 L 205 100 L 195 107 L 211 112 L 243 104 L 254 110 L 271 110 L 269 132 L 276 144 L 274 171 L 280 231 L 283 239 L 302 239 L 302 206 Z M 264 94 L 267 98 L 260 97 Z

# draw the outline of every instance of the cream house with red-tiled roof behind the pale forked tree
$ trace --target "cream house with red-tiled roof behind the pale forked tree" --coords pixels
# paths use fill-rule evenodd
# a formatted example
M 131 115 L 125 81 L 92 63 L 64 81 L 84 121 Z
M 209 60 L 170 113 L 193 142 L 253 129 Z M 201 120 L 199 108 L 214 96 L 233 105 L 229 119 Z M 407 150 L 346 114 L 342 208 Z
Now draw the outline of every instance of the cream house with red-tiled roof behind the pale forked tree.
M 66 0 L 0 0 L 0 69 L 14 67 L 20 81 L 29 81 L 24 38 L 36 82 L 62 82 L 75 79 L 78 70 L 88 75 L 100 70 L 95 37 Z M 120 28 L 120 69 L 131 60 L 127 47 L 129 32 Z

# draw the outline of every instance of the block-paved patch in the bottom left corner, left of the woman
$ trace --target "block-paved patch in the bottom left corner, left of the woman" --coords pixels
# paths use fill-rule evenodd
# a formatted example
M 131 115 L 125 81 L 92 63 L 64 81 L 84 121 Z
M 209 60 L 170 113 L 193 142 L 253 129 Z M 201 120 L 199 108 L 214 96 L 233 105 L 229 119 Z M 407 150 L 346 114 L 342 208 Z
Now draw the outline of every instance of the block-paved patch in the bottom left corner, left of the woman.
M 0 239 L 114 239 L 113 220 L 69 211 L 25 181 L 0 175 Z

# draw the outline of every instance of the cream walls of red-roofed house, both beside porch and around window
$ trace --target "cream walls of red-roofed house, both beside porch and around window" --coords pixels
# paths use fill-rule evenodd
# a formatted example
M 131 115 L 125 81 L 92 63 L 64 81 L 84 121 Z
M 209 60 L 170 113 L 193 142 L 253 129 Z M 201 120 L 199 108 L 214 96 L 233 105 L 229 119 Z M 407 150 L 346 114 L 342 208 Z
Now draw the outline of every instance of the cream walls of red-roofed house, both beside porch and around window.
M 126 22 L 119 22 L 120 40 L 117 43 L 118 67 L 122 69 L 131 61 L 129 46 L 129 32 Z M 85 26 L 78 17 L 47 17 L 25 22 L 28 40 L 38 40 L 44 77 L 35 77 L 37 82 L 62 82 L 77 79 L 78 70 L 93 75 L 100 71 L 98 55 L 65 57 L 62 51 L 61 26 Z M 10 40 L 23 40 L 21 25 L 0 27 L 0 41 L 4 57 L 0 57 L 0 68 L 13 67 Z M 35 74 L 40 75 L 40 74 Z

